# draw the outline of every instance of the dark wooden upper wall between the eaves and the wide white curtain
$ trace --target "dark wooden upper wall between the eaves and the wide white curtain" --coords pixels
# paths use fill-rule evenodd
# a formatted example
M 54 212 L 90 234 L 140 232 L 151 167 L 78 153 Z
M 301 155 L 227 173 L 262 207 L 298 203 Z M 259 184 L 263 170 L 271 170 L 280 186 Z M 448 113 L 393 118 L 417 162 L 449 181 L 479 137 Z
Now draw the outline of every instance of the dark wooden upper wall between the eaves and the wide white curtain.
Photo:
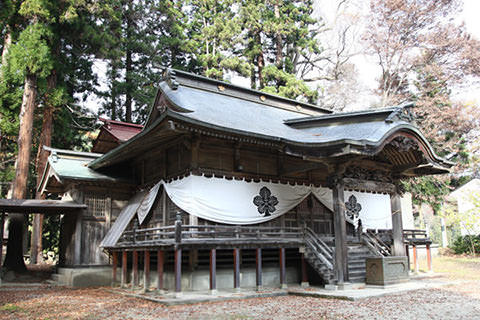
M 325 185 L 325 165 L 284 154 L 277 147 L 184 135 L 133 160 L 134 179 L 148 186 L 189 172 Z

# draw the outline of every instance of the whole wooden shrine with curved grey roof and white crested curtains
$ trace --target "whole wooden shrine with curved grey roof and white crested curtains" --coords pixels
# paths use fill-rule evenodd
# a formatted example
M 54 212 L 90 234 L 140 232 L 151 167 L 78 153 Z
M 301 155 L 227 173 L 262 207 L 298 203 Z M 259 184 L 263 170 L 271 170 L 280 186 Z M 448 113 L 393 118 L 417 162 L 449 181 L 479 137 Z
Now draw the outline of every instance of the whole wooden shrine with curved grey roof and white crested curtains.
M 451 167 L 412 124 L 413 104 L 332 113 L 176 70 L 158 86 L 128 141 L 49 149 L 39 189 L 87 206 L 63 219 L 62 267 L 177 292 L 182 273 L 216 290 L 223 269 L 234 288 L 247 269 L 249 284 L 271 285 L 266 268 L 281 286 L 364 282 L 368 256 L 406 254 L 399 182 Z

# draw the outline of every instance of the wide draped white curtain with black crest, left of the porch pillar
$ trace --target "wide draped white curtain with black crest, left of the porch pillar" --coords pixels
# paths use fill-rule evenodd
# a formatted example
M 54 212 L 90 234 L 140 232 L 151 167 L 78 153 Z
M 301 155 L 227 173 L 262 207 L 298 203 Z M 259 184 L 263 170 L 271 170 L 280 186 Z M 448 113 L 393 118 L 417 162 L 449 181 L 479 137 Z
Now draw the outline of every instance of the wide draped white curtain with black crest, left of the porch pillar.
M 256 224 L 287 213 L 310 193 L 332 210 L 327 188 L 271 182 L 246 182 L 190 175 L 164 183 L 165 191 L 182 210 L 225 224 Z

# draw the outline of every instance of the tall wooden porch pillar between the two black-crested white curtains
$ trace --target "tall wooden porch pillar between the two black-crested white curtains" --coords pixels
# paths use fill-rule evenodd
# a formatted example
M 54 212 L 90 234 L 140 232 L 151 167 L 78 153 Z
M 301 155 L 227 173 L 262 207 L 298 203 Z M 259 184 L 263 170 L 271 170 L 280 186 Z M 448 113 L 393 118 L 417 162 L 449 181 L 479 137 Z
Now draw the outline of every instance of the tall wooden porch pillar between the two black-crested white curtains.
M 345 225 L 345 195 L 342 179 L 333 185 L 333 211 L 335 228 L 335 272 L 337 283 L 348 281 L 347 269 L 347 227 Z

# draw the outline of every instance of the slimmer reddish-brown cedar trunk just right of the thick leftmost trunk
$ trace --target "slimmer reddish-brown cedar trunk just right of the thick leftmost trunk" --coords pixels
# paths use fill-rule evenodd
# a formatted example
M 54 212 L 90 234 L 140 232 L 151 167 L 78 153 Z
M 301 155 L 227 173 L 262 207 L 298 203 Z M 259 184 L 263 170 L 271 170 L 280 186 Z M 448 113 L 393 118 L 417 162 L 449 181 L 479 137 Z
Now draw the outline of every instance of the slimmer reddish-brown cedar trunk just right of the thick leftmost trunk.
M 48 152 L 43 146 L 50 147 L 52 145 L 53 132 L 53 111 L 55 106 L 49 99 L 49 95 L 57 87 L 57 73 L 52 70 L 47 78 L 47 96 L 45 108 L 43 110 L 42 132 L 40 134 L 40 143 L 38 144 L 36 168 L 37 168 L 37 188 L 42 180 L 43 172 L 48 161 Z M 45 199 L 45 196 L 37 191 L 35 199 Z M 42 246 L 42 230 L 43 230 L 43 214 L 35 214 L 32 224 L 32 238 L 30 246 L 30 261 L 32 264 L 43 262 L 43 246 Z

